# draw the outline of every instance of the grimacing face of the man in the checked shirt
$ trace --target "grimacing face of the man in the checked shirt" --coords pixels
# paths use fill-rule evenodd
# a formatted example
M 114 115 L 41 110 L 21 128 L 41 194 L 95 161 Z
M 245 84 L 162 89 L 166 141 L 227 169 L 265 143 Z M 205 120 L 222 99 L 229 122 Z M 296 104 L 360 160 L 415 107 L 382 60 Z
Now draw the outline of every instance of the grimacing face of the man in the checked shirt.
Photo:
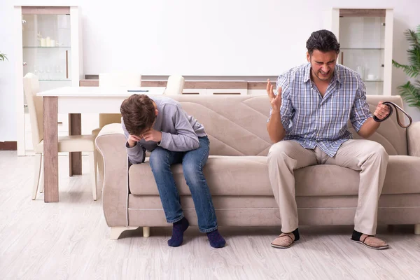
M 329 52 L 314 50 L 312 55 L 309 55 L 309 52 L 307 52 L 307 59 L 311 63 L 313 78 L 318 78 L 323 81 L 331 80 L 335 64 L 337 63 L 337 57 L 338 54 L 334 50 Z

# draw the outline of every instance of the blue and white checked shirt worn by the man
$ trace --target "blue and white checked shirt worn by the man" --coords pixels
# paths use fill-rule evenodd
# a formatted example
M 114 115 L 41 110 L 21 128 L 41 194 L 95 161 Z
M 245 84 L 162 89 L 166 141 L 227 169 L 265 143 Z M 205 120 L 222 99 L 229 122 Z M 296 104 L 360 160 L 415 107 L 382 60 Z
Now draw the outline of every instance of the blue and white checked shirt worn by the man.
M 366 102 L 366 88 L 356 71 L 335 65 L 332 80 L 324 97 L 311 81 L 311 64 L 297 66 L 277 78 L 281 87 L 281 123 L 284 140 L 294 140 L 304 148 L 321 148 L 333 157 L 339 146 L 353 138 L 350 120 L 358 132 L 372 117 Z M 270 110 L 271 117 L 272 110 Z

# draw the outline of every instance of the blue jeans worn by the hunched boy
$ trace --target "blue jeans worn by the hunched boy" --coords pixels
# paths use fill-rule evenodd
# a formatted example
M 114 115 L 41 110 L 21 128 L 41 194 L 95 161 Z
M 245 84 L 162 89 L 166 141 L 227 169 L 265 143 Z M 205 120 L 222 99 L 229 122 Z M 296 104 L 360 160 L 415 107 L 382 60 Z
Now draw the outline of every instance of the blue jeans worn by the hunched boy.
M 188 152 L 172 152 L 158 147 L 152 151 L 150 165 L 162 201 L 168 223 L 180 221 L 184 214 L 181 208 L 171 165 L 182 162 L 183 174 L 193 197 L 200 232 L 217 229 L 216 213 L 204 178 L 203 167 L 209 158 L 209 138 L 199 137 L 200 147 Z

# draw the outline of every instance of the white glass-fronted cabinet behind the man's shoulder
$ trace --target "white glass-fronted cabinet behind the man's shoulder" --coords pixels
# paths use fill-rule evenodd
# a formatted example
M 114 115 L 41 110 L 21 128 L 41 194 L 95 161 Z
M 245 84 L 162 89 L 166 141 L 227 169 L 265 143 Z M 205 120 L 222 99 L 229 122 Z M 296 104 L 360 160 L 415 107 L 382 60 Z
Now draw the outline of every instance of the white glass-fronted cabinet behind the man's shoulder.
M 391 95 L 393 9 L 332 8 L 330 24 L 338 62 L 360 74 L 367 94 Z

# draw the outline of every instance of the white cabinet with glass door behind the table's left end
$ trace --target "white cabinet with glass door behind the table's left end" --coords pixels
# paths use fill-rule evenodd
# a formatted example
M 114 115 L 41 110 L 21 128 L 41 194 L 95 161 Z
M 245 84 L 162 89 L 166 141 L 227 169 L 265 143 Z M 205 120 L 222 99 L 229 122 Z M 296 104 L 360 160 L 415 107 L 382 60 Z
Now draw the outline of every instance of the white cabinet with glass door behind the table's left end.
M 38 13 L 40 12 L 40 13 Z M 68 12 L 68 13 L 67 13 Z M 39 90 L 52 90 L 72 85 L 70 10 L 41 7 L 22 10 L 23 76 L 38 76 Z M 32 151 L 29 111 L 25 104 L 25 151 Z M 67 135 L 68 116 L 58 114 L 58 133 Z

